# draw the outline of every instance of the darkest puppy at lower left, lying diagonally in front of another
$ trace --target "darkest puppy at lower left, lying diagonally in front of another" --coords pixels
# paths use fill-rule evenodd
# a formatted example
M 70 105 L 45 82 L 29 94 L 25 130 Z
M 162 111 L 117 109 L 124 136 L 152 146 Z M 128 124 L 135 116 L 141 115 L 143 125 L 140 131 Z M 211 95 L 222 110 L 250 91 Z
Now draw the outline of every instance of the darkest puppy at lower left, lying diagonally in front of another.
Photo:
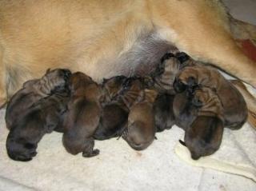
M 10 127 L 6 140 L 8 156 L 15 161 L 30 161 L 37 154 L 38 142 L 62 123 L 69 92 L 54 90 L 53 95 L 42 98 L 22 114 Z

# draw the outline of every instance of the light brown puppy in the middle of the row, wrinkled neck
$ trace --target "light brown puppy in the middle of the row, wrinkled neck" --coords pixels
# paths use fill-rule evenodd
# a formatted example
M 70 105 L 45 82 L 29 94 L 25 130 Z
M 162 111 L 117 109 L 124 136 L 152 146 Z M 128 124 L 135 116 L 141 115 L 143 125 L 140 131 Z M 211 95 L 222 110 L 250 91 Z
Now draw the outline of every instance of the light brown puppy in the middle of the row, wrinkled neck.
M 130 109 L 130 113 L 128 125 L 122 133 L 122 138 L 133 149 L 146 149 L 154 141 L 156 132 L 153 106 L 158 92 L 144 89 L 143 83 L 139 79 L 131 80 L 127 86 L 124 87 L 122 100 Z

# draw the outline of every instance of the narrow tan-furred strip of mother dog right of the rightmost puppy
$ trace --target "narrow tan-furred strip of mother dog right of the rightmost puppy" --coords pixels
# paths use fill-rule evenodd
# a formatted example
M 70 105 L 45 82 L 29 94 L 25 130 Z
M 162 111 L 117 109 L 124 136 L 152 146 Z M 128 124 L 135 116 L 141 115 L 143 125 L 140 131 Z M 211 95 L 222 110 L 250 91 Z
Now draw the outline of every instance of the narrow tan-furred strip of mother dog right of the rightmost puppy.
M 247 90 L 246 86 L 238 80 L 230 80 L 230 82 L 238 89 L 246 101 L 248 108 L 248 118 L 247 121 L 251 126 L 256 129 L 256 98 L 253 94 Z

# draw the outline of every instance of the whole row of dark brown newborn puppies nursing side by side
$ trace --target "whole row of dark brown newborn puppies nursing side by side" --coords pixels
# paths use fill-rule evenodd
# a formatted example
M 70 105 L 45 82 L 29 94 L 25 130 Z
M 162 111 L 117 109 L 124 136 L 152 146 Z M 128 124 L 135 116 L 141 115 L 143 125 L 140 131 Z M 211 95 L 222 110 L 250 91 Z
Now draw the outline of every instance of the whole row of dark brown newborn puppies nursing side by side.
M 116 76 L 102 84 L 81 72 L 47 70 L 23 84 L 6 107 L 8 156 L 30 161 L 46 133 L 63 133 L 71 154 L 94 157 L 94 140 L 122 137 L 146 149 L 156 133 L 178 125 L 183 145 L 197 160 L 216 152 L 224 128 L 240 129 L 247 119 L 242 94 L 218 70 L 185 53 L 163 55 L 147 76 Z

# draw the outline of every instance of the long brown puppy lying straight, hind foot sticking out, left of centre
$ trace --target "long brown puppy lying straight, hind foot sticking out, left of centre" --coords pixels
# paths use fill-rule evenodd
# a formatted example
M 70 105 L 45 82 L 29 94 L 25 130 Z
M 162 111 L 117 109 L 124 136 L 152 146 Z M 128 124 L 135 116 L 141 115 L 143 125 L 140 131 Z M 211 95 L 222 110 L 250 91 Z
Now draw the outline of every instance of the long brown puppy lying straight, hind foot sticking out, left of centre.
M 70 77 L 70 101 L 63 122 L 63 145 L 72 154 L 94 157 L 94 132 L 101 115 L 101 88 L 86 74 L 77 72 Z

